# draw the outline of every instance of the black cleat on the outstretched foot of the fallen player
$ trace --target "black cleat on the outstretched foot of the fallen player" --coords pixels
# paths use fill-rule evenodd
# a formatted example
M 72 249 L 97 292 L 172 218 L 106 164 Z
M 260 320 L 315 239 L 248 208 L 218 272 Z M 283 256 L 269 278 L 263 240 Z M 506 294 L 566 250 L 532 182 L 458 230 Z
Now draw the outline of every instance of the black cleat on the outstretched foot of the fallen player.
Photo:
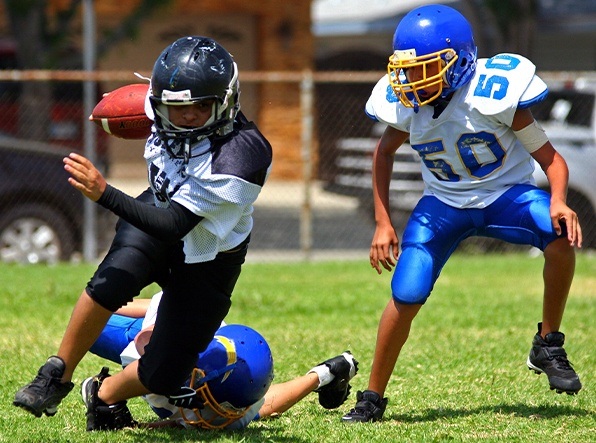
M 346 351 L 337 357 L 325 360 L 318 366 L 320 365 L 327 366 L 334 377 L 331 382 L 315 390 L 319 393 L 319 404 L 325 409 L 338 408 L 350 395 L 349 382 L 358 372 L 358 361 L 350 351 Z

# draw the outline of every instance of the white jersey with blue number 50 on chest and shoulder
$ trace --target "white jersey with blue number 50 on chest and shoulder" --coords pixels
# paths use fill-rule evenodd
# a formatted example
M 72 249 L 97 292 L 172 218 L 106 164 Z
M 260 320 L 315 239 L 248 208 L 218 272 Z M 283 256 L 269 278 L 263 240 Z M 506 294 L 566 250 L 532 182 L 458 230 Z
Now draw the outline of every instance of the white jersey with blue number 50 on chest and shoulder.
M 415 112 L 395 96 L 384 76 L 366 103 L 366 113 L 410 134 L 422 159 L 425 195 L 457 208 L 483 208 L 515 184 L 534 183 L 534 161 L 511 123 L 518 108 L 546 96 L 536 67 L 516 54 L 479 59 L 472 80 L 433 118 L 433 106 Z

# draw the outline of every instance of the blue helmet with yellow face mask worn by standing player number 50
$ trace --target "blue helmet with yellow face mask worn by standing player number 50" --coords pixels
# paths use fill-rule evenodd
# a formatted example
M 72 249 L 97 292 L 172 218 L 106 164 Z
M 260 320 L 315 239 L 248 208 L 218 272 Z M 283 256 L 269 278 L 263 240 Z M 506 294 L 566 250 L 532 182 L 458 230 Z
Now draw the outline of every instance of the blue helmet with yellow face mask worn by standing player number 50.
M 472 27 L 448 6 L 427 5 L 406 14 L 395 29 L 393 51 L 387 66 L 389 82 L 401 103 L 415 110 L 447 98 L 476 70 Z M 409 80 L 409 68 L 418 68 L 422 78 Z M 428 88 L 436 92 L 429 94 Z

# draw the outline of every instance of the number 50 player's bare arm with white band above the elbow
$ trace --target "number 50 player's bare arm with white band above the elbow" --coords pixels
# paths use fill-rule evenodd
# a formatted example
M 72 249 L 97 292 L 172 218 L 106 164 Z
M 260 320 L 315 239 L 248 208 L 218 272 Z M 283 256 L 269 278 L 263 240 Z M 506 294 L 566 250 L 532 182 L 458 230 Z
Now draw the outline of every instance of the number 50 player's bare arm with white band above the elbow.
M 515 112 L 511 129 L 546 174 L 551 193 L 550 216 L 555 231 L 561 233 L 560 221 L 564 220 L 569 243 L 581 248 L 581 226 L 575 211 L 567 206 L 569 169 L 565 159 L 555 150 L 529 109 Z

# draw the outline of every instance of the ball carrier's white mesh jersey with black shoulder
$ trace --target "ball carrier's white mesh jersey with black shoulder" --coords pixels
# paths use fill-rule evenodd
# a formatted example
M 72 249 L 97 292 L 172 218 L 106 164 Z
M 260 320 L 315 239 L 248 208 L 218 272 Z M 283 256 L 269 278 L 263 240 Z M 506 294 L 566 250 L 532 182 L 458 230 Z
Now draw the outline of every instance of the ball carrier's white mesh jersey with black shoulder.
M 253 203 L 266 180 L 271 148 L 247 123 L 213 149 L 209 139 L 191 148 L 188 163 L 171 156 L 153 134 L 145 146 L 149 183 L 158 207 L 175 201 L 203 220 L 184 237 L 186 263 L 213 260 L 242 243 L 253 226 Z M 266 170 L 266 174 L 258 172 Z

